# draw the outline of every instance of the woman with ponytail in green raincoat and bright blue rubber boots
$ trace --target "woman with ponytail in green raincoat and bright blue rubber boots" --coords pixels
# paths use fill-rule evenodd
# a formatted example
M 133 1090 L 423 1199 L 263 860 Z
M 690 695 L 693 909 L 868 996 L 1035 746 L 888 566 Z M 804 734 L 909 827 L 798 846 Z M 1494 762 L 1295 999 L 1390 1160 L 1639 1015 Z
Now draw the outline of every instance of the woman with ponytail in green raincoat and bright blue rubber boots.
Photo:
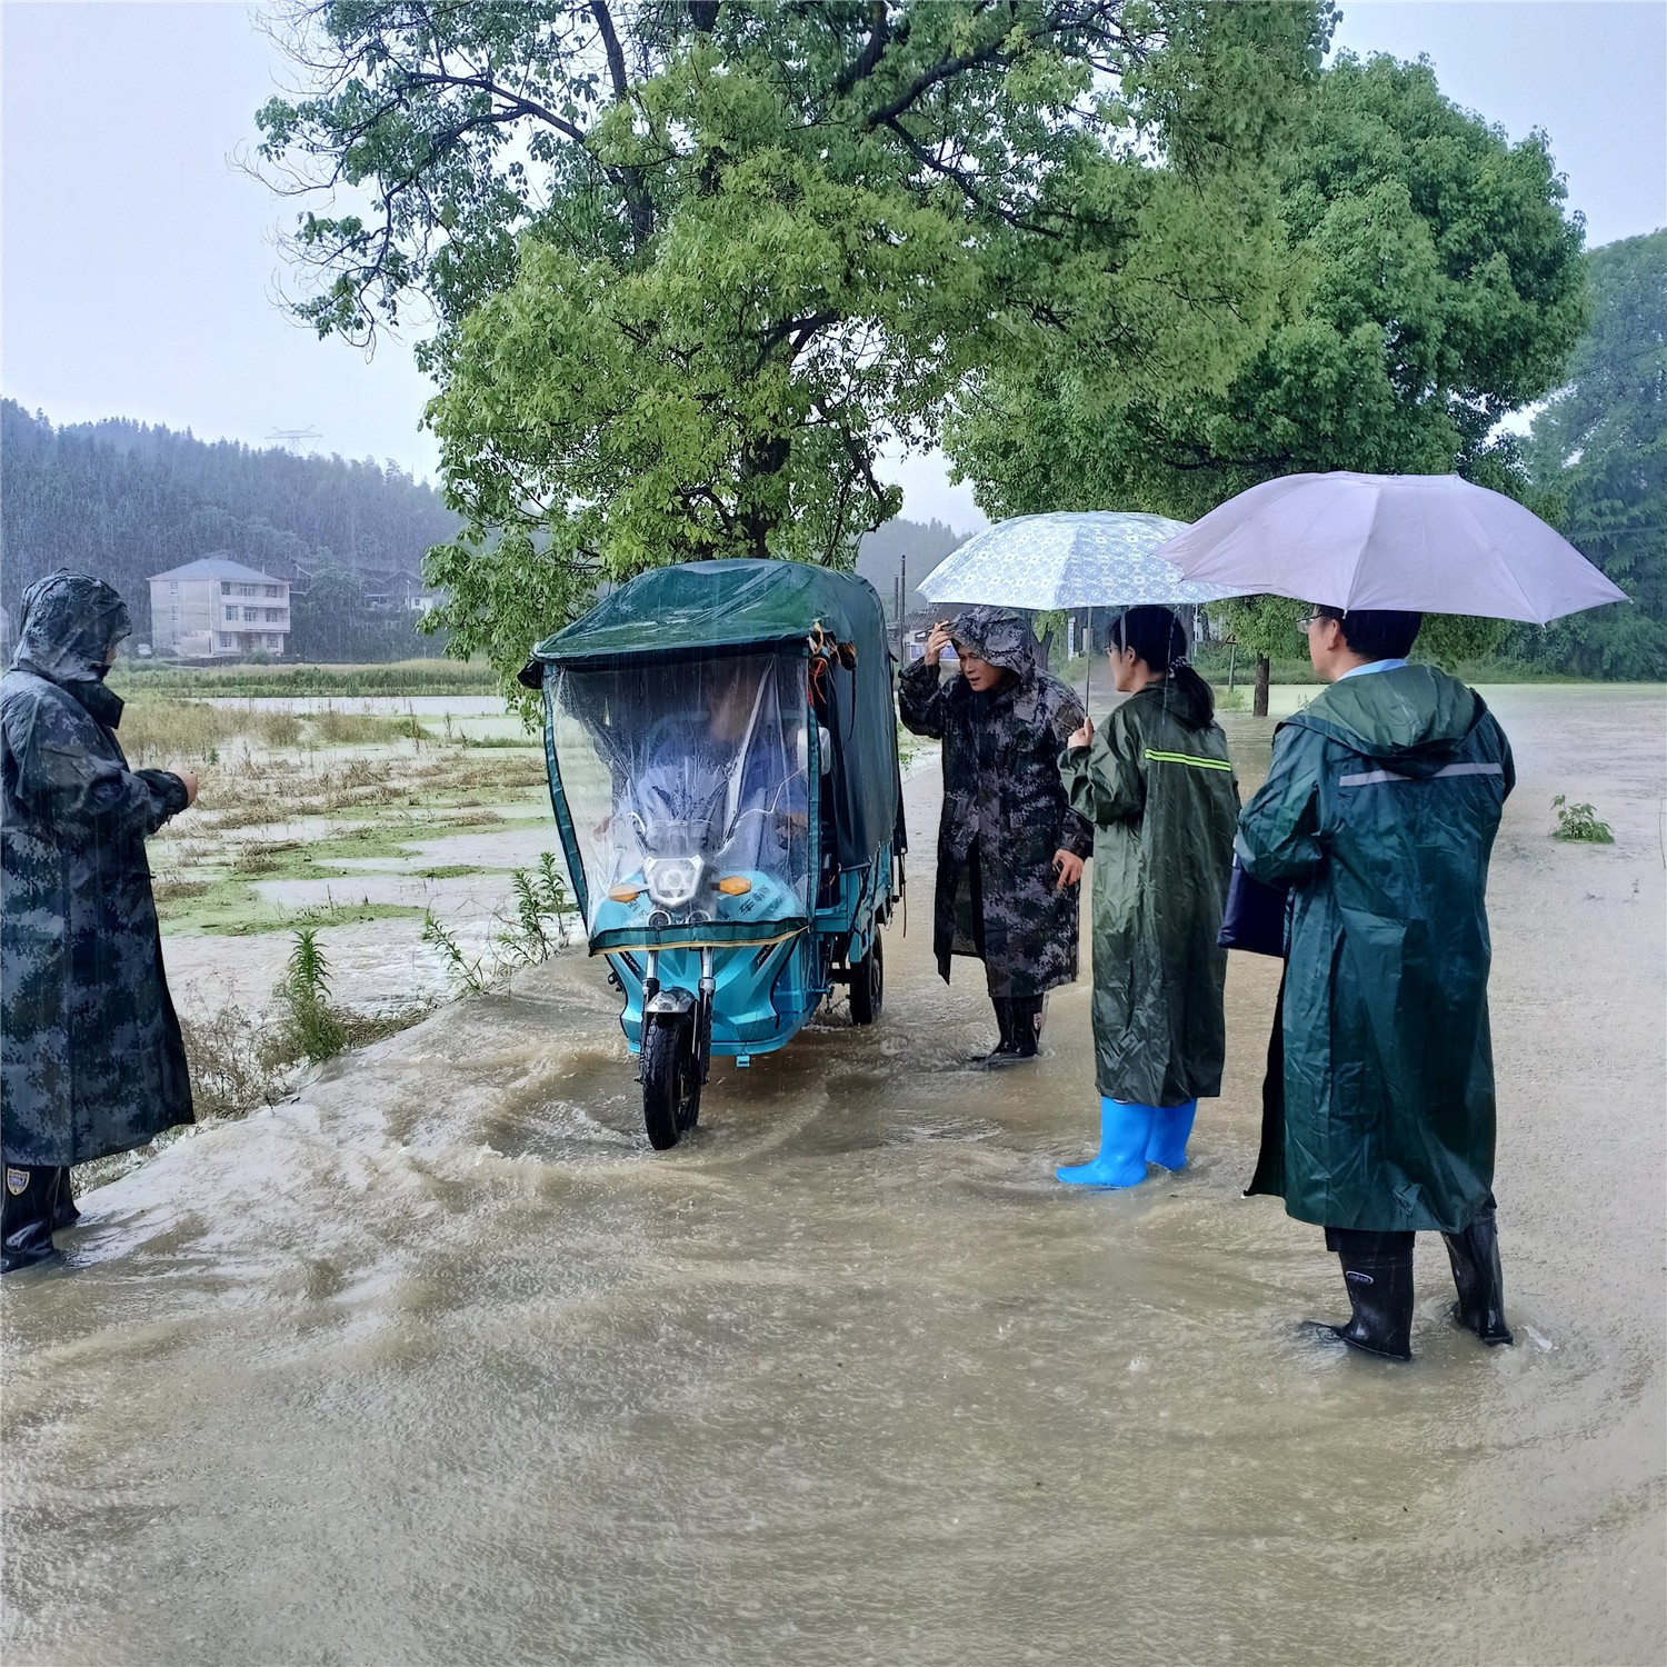
M 1060 775 L 1094 823 L 1094 1059 L 1100 1150 L 1059 1179 L 1134 1187 L 1180 1169 L 1200 1095 L 1222 1089 L 1222 925 L 1239 783 L 1210 685 L 1169 608 L 1129 608 L 1109 653 L 1129 698 L 1070 737 Z

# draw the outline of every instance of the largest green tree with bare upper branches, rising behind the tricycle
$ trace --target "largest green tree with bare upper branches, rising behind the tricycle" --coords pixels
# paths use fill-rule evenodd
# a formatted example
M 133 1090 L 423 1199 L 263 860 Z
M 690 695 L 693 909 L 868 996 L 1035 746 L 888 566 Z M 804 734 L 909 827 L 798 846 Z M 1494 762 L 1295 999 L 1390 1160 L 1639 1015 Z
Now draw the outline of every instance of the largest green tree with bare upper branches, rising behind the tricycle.
M 849 562 L 879 445 L 1054 318 L 1220 388 L 1272 288 L 1255 163 L 1312 73 L 1309 0 L 337 0 L 268 167 L 320 330 L 432 320 L 463 535 L 458 652 L 508 668 L 600 578 Z

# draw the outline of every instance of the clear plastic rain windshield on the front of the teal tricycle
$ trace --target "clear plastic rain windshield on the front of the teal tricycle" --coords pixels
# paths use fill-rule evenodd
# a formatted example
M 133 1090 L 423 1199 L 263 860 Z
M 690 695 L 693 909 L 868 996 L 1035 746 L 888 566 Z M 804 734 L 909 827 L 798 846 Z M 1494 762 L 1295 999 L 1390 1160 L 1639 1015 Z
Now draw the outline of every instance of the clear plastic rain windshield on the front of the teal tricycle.
M 807 915 L 802 652 L 563 668 L 545 703 L 592 942 Z

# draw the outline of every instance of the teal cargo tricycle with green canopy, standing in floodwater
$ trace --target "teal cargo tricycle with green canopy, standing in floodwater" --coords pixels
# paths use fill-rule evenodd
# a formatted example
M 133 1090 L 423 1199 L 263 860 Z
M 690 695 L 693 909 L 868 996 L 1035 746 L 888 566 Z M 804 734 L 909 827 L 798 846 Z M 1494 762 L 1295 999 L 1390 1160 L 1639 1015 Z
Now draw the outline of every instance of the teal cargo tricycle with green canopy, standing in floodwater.
M 834 985 L 854 1024 L 880 1014 L 904 855 L 880 598 L 800 562 L 653 568 L 528 673 L 590 954 L 665 1149 L 713 1055 L 783 1047 Z

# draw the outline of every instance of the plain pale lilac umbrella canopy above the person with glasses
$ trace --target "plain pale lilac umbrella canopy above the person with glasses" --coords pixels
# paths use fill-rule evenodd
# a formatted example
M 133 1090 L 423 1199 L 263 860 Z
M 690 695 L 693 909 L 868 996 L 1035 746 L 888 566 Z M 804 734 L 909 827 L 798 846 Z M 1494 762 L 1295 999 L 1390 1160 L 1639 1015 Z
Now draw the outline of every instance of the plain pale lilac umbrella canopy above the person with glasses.
M 1329 608 L 1545 625 L 1625 602 L 1567 538 L 1457 475 L 1285 475 L 1164 545 L 1189 578 Z

